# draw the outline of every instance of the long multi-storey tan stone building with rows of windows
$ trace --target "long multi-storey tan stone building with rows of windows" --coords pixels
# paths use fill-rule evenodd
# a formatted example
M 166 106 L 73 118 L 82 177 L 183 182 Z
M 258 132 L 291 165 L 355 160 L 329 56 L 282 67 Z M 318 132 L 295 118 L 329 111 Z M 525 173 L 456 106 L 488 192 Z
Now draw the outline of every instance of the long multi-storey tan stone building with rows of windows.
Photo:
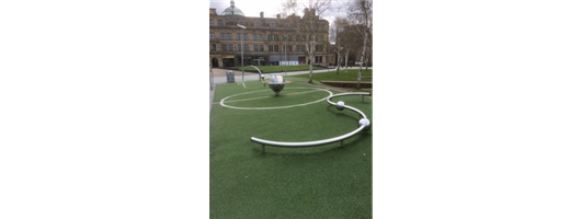
M 309 56 L 305 42 L 293 27 L 305 16 L 317 18 L 317 31 L 312 35 L 314 65 L 329 65 L 332 54 L 329 45 L 329 22 L 319 19 L 315 11 L 305 9 L 303 18 L 286 19 L 247 16 L 242 10 L 230 7 L 221 14 L 209 9 L 209 67 L 307 65 Z

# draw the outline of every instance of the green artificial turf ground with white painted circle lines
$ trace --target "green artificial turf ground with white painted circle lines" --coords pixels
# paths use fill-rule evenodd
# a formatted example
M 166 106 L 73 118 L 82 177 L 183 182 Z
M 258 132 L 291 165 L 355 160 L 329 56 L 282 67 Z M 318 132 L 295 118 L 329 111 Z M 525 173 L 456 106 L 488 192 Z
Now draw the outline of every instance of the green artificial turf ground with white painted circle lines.
M 250 141 L 311 141 L 358 127 L 358 114 L 324 99 L 330 89 L 286 77 L 278 96 L 259 81 L 217 84 L 209 116 L 209 218 L 373 217 L 373 99 L 338 96 L 372 127 L 340 142 L 281 148 Z M 220 102 L 226 106 L 220 105 Z M 277 108 L 273 108 L 277 107 Z

